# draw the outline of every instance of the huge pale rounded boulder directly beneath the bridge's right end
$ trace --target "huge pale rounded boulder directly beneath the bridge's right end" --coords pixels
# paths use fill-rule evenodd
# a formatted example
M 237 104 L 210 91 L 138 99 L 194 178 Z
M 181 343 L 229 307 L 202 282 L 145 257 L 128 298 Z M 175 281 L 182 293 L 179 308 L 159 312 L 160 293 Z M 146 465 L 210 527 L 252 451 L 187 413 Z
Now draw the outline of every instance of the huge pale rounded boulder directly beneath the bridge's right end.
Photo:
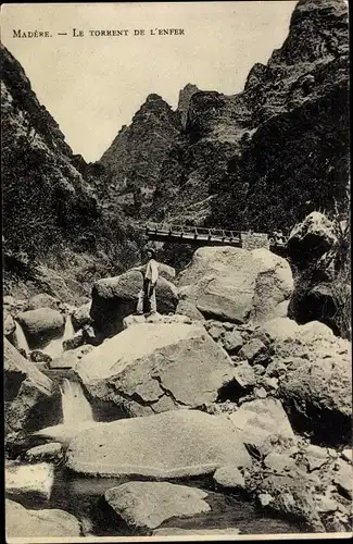
M 202 247 L 178 276 L 180 298 L 206 318 L 234 323 L 262 322 L 293 290 L 288 262 L 268 251 Z

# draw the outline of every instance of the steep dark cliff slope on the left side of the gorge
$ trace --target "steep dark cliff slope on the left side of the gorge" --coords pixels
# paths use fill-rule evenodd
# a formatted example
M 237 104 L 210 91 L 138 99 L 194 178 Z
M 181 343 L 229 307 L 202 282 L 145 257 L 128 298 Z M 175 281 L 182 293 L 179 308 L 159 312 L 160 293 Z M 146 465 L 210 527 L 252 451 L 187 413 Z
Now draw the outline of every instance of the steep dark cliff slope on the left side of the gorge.
M 104 168 L 73 153 L 21 64 L 0 52 L 4 294 L 72 302 L 135 263 L 134 228 L 118 203 L 104 205 Z

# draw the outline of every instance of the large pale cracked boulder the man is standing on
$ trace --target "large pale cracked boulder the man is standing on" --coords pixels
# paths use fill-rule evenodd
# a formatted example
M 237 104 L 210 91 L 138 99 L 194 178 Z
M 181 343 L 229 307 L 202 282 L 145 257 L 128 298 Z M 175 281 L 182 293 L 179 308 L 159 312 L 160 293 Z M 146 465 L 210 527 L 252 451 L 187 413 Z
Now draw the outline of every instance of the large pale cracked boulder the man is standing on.
M 201 324 L 178 322 L 129 326 L 84 356 L 76 372 L 91 396 L 130 416 L 201 407 L 236 379 L 230 358 Z

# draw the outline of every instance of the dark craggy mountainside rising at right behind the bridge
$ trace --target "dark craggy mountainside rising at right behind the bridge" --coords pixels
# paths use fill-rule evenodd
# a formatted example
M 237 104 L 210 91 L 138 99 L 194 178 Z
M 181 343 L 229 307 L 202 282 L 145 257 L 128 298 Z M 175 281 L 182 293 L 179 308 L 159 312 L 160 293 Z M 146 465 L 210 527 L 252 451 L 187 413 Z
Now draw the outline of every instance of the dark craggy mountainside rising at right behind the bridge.
M 253 66 L 241 94 L 192 96 L 154 217 L 286 230 L 345 201 L 348 135 L 346 4 L 300 1 L 283 46 Z

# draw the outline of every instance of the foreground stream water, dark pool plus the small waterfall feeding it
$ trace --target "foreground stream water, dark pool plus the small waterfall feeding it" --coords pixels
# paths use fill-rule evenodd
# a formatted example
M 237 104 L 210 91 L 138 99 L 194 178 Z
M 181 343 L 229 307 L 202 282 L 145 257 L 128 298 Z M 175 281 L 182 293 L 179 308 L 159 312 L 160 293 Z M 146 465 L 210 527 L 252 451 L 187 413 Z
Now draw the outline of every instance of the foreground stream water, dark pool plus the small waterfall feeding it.
M 60 372 L 58 372 L 56 379 L 60 382 L 63 412 L 63 422 L 58 428 L 67 425 L 77 429 L 79 424 L 89 424 L 94 419 L 100 421 L 112 419 L 111 417 L 105 418 L 104 412 L 100 412 L 101 417 L 97 418 L 97 411 L 94 413 L 79 382 L 71 380 L 70 376 L 63 378 Z M 115 419 L 118 419 L 117 412 Z M 55 429 L 55 426 L 51 429 Z M 46 443 L 43 436 L 31 434 L 28 435 L 27 444 L 22 443 L 21 450 L 25 452 L 29 447 L 43 443 Z M 16 455 L 21 454 L 21 450 Z M 40 480 L 42 463 L 37 463 L 38 474 L 36 474 L 36 470 L 34 470 L 35 463 L 29 465 L 20 459 L 21 455 L 15 461 L 18 469 L 23 470 L 27 467 L 29 478 L 33 478 L 34 481 Z M 15 493 L 15 495 L 10 494 L 10 498 L 21 503 L 28 509 L 60 508 L 71 512 L 80 520 L 83 533 L 86 536 L 131 535 L 127 526 L 117 520 L 114 511 L 103 498 L 106 490 L 131 480 L 131 478 L 83 477 L 70 471 L 63 462 L 54 463 L 52 468 L 53 473 L 51 473 L 49 491 L 48 482 L 41 483 L 42 487 L 47 490 L 45 495 L 35 492 Z M 173 482 L 173 480 L 171 481 Z M 236 528 L 240 530 L 240 534 L 289 534 L 301 531 L 301 528 L 295 523 L 272 518 L 268 514 L 265 515 L 259 510 L 253 503 L 241 497 L 215 493 L 211 477 L 175 483 L 204 489 L 209 493 L 206 500 L 212 507 L 212 511 L 193 516 L 190 519 L 174 518 L 161 527 L 179 527 L 184 529 Z

